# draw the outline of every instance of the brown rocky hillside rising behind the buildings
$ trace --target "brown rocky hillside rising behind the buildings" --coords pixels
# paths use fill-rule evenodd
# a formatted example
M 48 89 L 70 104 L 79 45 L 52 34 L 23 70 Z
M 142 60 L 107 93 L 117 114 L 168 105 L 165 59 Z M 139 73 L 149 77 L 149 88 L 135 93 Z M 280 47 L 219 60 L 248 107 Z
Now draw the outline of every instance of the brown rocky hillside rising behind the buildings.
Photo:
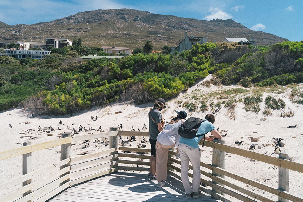
M 233 20 L 197 20 L 173 15 L 159 15 L 133 9 L 95 10 L 66 18 L 32 25 L 7 25 L 0 22 L 0 41 L 43 41 L 45 37 L 81 37 L 83 45 L 141 47 L 150 39 L 155 49 L 163 45 L 177 46 L 188 35 L 207 37 L 208 41 L 223 41 L 225 37 L 255 37 L 258 45 L 285 41 L 262 31 L 252 31 Z

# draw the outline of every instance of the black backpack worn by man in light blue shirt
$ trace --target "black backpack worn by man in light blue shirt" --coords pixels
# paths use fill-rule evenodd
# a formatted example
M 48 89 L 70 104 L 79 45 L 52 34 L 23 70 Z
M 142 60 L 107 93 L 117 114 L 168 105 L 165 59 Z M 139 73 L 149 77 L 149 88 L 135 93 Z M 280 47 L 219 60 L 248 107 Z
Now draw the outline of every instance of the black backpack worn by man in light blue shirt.
M 202 135 L 196 135 L 198 128 L 200 127 L 200 124 L 204 121 L 206 121 L 206 120 L 202 120 L 202 119 L 196 118 L 196 117 L 190 117 L 179 127 L 178 134 L 181 137 L 184 137 L 187 139 L 204 136 L 203 145 L 202 145 L 202 147 L 204 147 L 205 135 L 208 132 L 205 134 L 202 134 Z

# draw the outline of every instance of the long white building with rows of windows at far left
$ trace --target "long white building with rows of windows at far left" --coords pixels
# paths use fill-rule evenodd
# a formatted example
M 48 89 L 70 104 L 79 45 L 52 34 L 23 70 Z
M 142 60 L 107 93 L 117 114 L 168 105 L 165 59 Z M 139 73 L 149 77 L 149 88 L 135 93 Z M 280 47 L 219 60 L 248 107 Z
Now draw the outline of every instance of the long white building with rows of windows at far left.
M 45 55 L 49 55 L 51 51 L 33 51 L 33 50 L 16 50 L 4 49 L 6 53 L 0 53 L 0 56 L 9 56 L 13 58 L 25 59 L 27 57 L 41 60 Z

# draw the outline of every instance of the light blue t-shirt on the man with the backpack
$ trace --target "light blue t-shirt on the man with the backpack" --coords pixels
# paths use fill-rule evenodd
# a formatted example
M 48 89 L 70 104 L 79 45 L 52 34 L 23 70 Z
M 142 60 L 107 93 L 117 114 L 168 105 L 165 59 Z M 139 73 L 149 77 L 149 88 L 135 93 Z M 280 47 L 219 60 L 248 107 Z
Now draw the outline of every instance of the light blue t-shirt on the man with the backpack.
M 206 119 L 204 119 L 206 120 Z M 200 124 L 200 127 L 198 128 L 197 134 L 196 135 L 202 135 L 205 134 L 207 132 L 210 132 L 212 130 L 215 130 L 215 126 L 214 124 L 212 124 L 209 121 L 204 121 Z M 200 142 L 200 140 L 203 138 L 203 136 L 200 137 L 194 137 L 191 139 L 187 139 L 184 137 L 180 137 L 180 141 L 179 143 L 183 143 L 183 144 L 187 144 L 188 146 L 192 147 L 192 148 L 199 148 L 198 143 Z

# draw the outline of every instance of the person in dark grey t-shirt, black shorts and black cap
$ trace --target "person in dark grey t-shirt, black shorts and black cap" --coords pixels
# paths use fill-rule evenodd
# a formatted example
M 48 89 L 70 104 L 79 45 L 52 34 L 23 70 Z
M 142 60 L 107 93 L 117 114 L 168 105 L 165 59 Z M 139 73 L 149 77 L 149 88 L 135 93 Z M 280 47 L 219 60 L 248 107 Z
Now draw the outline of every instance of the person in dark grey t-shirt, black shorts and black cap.
M 149 174 L 151 180 L 156 180 L 156 142 L 158 134 L 163 131 L 162 114 L 160 111 L 166 108 L 165 100 L 159 98 L 148 114 L 149 117 L 149 144 L 151 144 L 151 157 L 149 159 Z

